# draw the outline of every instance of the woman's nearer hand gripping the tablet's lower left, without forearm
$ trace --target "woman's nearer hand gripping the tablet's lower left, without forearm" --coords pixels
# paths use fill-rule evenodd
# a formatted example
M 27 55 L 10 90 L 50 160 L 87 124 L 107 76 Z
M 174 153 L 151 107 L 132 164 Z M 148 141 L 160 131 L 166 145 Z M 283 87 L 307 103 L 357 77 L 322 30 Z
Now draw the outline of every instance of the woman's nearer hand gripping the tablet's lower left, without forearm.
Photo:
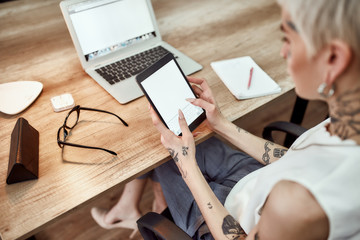
M 179 125 L 182 136 L 176 136 L 159 119 L 156 112 L 150 107 L 150 115 L 153 124 L 161 134 L 161 143 L 169 151 L 174 159 L 183 178 L 186 178 L 188 171 L 194 169 L 195 160 L 195 140 L 184 118 L 184 114 L 179 110 Z

